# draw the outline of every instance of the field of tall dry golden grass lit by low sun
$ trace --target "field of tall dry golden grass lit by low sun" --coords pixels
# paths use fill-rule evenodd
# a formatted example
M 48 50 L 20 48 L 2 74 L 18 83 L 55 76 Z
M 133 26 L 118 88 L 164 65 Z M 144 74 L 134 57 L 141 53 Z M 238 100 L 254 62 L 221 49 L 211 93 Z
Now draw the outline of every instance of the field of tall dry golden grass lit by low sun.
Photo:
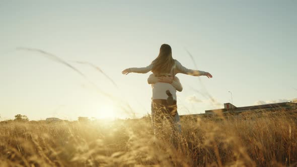
M 0 122 L 1 166 L 294 166 L 297 112 L 183 117 L 179 147 L 149 118 Z

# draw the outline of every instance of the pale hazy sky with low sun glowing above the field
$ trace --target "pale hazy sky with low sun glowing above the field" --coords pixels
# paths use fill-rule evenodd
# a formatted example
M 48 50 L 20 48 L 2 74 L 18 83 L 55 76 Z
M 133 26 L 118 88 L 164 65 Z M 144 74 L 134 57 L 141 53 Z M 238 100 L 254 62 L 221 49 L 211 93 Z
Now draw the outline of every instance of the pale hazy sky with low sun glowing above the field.
M 150 73 L 121 71 L 150 64 L 163 43 L 195 69 L 186 48 L 198 70 L 213 75 L 201 81 L 177 75 L 184 87 L 178 93 L 180 114 L 220 108 L 231 102 L 228 91 L 239 107 L 292 100 L 297 98 L 296 16 L 297 1 L 1 1 L 0 120 L 16 114 L 76 120 L 150 113 Z M 17 47 L 52 53 L 88 79 Z M 97 65 L 118 88 L 98 70 L 73 61 Z

